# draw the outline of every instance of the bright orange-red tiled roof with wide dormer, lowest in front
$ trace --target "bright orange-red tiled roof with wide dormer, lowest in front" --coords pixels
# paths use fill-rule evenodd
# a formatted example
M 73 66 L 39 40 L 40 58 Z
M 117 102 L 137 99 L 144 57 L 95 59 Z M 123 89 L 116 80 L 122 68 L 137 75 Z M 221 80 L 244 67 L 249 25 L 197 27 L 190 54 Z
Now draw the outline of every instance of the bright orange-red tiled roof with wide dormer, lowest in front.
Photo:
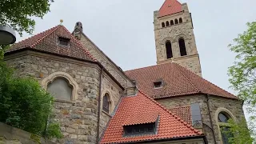
M 126 118 L 130 118 L 132 115 L 130 122 L 137 123 L 140 114 L 143 114 L 144 117 L 143 122 L 140 123 L 150 122 L 152 118 L 155 118 L 154 114 L 159 114 L 157 133 L 123 137 L 123 124 L 126 122 Z M 139 91 L 136 96 L 122 98 L 114 117 L 110 119 L 109 125 L 106 127 L 101 143 L 142 142 L 200 135 L 202 135 L 201 132 L 184 122 L 182 118 L 172 114 L 154 99 Z

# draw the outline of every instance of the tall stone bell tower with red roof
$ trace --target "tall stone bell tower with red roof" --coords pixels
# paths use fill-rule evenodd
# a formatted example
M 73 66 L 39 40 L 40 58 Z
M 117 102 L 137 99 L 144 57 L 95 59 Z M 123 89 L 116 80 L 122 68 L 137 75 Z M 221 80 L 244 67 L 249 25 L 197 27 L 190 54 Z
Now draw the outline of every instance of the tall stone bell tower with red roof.
M 154 11 L 157 64 L 176 62 L 202 76 L 193 22 L 186 3 L 166 0 Z

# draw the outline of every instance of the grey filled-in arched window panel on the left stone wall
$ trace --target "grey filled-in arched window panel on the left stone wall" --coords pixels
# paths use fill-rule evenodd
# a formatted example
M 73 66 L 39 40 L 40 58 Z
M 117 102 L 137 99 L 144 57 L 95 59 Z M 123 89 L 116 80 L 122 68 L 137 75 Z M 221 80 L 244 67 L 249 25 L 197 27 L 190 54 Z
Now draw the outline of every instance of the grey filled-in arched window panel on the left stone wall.
M 58 100 L 72 100 L 73 86 L 66 78 L 55 78 L 53 82 L 48 83 L 47 91 Z

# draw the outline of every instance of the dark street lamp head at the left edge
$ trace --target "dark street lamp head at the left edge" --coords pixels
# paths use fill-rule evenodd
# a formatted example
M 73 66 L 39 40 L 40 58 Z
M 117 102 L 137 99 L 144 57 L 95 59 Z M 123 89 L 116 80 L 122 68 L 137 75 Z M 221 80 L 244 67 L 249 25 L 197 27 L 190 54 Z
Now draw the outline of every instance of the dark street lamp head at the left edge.
M 9 45 L 14 42 L 16 42 L 14 30 L 7 26 L 0 26 L 0 45 Z

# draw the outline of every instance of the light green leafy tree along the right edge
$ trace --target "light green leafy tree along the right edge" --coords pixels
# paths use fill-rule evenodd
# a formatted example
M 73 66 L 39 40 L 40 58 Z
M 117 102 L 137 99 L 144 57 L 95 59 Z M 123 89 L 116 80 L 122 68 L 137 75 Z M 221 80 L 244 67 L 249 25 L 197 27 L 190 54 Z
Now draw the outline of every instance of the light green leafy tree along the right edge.
M 239 138 L 243 143 L 255 142 L 255 111 L 256 111 L 256 22 L 247 23 L 248 30 L 243 34 L 238 34 L 234 38 L 234 44 L 230 44 L 230 50 L 236 54 L 234 66 L 230 66 L 228 74 L 231 87 L 238 92 L 238 98 L 241 98 L 248 107 L 250 120 L 248 126 L 239 122 L 235 124 L 230 122 L 230 132 L 234 134 L 235 143 Z M 248 130 L 246 132 L 246 130 Z M 238 133 L 238 134 L 236 134 Z M 245 138 L 245 134 L 250 134 L 252 139 Z M 237 141 L 238 142 L 238 141 Z

